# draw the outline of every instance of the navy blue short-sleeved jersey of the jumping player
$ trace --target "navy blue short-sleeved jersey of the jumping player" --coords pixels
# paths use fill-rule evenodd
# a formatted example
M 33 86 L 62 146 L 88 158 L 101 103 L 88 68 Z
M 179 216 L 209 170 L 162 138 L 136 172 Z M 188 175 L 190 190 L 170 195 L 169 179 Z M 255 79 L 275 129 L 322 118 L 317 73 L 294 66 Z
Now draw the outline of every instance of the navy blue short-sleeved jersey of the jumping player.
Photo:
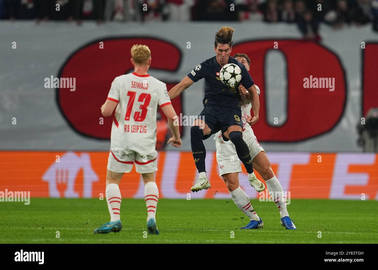
M 253 79 L 245 66 L 231 56 L 228 59 L 228 64 L 230 63 L 236 64 L 242 70 L 242 80 L 240 83 L 246 89 L 253 86 Z M 227 87 L 219 78 L 220 69 L 221 66 L 218 64 L 216 56 L 214 56 L 198 64 L 187 76 L 194 82 L 205 78 L 204 106 L 231 108 L 240 101 L 238 89 L 240 83 L 236 85 L 234 90 Z

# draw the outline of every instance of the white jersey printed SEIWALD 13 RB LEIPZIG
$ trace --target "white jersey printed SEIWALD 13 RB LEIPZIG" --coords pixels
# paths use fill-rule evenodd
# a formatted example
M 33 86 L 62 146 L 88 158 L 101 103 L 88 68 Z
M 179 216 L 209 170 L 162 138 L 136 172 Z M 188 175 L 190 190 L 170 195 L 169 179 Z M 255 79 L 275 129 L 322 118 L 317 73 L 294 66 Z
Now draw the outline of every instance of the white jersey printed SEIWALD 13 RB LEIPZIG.
M 110 150 L 115 155 L 129 150 L 141 155 L 153 153 L 157 108 L 171 104 L 166 84 L 150 75 L 121 75 L 114 79 L 108 99 L 118 102 Z

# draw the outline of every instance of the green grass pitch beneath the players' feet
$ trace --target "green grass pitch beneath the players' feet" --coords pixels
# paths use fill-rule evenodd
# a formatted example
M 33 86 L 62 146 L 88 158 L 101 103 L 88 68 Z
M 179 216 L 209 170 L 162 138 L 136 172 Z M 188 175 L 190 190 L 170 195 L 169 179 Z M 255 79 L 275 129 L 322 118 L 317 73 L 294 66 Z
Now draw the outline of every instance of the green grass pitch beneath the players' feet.
M 378 201 L 291 200 L 288 212 L 295 231 L 281 226 L 274 202 L 251 203 L 264 221 L 263 229 L 239 229 L 249 220 L 231 199 L 160 199 L 156 215 L 160 235 L 144 238 L 143 199 L 122 199 L 122 231 L 109 234 L 93 234 L 109 221 L 105 200 L 3 202 L 0 243 L 378 243 Z

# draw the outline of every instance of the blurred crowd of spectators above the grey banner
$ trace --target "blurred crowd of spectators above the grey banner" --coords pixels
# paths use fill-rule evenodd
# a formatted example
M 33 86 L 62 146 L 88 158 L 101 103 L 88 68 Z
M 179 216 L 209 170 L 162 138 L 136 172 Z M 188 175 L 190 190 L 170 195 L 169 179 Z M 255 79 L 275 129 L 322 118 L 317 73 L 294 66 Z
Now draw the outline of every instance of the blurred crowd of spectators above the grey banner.
M 378 31 L 378 0 L 0 0 L 0 19 L 285 22 L 320 40 L 320 22 Z

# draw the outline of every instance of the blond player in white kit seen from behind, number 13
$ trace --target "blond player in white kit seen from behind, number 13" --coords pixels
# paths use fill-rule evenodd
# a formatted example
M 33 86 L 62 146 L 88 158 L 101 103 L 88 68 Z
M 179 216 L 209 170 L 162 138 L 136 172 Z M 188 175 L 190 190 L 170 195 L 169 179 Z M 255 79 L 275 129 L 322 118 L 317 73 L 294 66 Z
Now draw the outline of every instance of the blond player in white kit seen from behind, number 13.
M 159 190 L 155 183 L 157 169 L 156 113 L 157 108 L 167 116 L 173 137 L 168 140 L 180 147 L 179 126 L 174 125 L 176 112 L 170 102 L 165 83 L 147 74 L 151 64 L 151 52 L 146 45 L 133 45 L 131 62 L 134 72 L 118 76 L 112 82 L 101 113 L 110 116 L 116 109 L 106 174 L 105 197 L 110 222 L 95 229 L 94 233 L 119 232 L 122 229 L 121 191 L 119 183 L 124 173 L 131 172 L 135 164 L 144 182 L 144 200 L 147 207 L 149 234 L 159 234 L 156 226 L 156 206 Z

